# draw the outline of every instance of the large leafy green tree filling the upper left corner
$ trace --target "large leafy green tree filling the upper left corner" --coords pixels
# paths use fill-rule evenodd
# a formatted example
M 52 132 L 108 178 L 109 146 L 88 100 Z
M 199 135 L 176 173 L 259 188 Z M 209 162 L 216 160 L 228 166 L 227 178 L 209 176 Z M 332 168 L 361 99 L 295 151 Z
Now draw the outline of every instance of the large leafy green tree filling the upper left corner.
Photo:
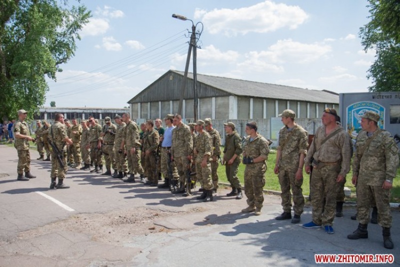
M 18 109 L 33 114 L 44 104 L 45 76 L 56 80 L 89 18 L 68 0 L 0 1 L 0 117 L 15 117 Z

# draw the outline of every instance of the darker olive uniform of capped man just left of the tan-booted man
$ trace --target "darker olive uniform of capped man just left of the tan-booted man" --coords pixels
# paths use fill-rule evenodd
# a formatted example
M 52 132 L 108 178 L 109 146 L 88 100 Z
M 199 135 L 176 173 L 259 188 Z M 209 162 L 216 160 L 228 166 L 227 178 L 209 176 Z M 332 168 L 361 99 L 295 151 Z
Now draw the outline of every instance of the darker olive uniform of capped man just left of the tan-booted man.
M 231 134 L 226 135 L 225 147 L 223 149 L 223 159 L 225 161 L 225 174 L 232 189 L 241 188 L 239 178 L 237 177 L 237 169 L 239 168 L 240 157 L 242 152 L 243 149 L 241 148 L 241 137 L 236 132 L 236 130 L 233 130 Z M 228 162 L 233 157 L 234 154 L 236 154 L 237 157 L 235 158 L 233 163 L 230 165 L 226 164 L 226 162 Z

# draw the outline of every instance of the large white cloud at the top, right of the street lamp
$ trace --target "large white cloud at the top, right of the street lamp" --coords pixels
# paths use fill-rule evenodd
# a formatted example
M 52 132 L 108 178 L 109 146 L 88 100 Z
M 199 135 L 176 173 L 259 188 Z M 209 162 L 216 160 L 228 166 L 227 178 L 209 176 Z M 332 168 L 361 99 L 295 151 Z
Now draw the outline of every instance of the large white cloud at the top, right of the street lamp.
M 226 36 L 249 32 L 267 33 L 280 28 L 296 29 L 308 15 L 298 6 L 276 4 L 271 1 L 240 9 L 196 9 L 194 19 L 201 20 L 210 34 Z

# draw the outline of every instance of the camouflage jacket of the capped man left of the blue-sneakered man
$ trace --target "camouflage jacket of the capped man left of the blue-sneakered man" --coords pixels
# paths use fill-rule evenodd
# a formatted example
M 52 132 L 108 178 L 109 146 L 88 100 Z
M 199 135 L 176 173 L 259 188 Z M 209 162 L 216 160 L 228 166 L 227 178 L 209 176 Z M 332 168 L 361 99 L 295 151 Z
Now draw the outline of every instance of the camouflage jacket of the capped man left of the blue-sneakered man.
M 278 162 L 281 170 L 297 170 L 300 154 L 307 154 L 307 132 L 299 125 L 290 131 L 284 126 L 279 131 L 279 144 L 277 150 L 281 151 Z

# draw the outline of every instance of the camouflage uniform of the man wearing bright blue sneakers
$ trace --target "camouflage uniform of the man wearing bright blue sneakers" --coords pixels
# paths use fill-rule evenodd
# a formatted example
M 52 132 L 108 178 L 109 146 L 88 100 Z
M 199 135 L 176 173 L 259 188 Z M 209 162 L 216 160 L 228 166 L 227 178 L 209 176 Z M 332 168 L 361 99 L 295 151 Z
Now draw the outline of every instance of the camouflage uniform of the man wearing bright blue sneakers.
M 304 159 L 305 164 L 311 163 L 311 158 L 319 162 L 312 170 L 310 182 L 312 221 L 317 225 L 332 226 L 338 186 L 336 179 L 338 175 L 345 177 L 350 170 L 349 136 L 341 126 L 337 126 L 333 131 L 338 128 L 341 128 L 339 132 L 321 146 L 327 135 L 325 126 L 319 127 Z

